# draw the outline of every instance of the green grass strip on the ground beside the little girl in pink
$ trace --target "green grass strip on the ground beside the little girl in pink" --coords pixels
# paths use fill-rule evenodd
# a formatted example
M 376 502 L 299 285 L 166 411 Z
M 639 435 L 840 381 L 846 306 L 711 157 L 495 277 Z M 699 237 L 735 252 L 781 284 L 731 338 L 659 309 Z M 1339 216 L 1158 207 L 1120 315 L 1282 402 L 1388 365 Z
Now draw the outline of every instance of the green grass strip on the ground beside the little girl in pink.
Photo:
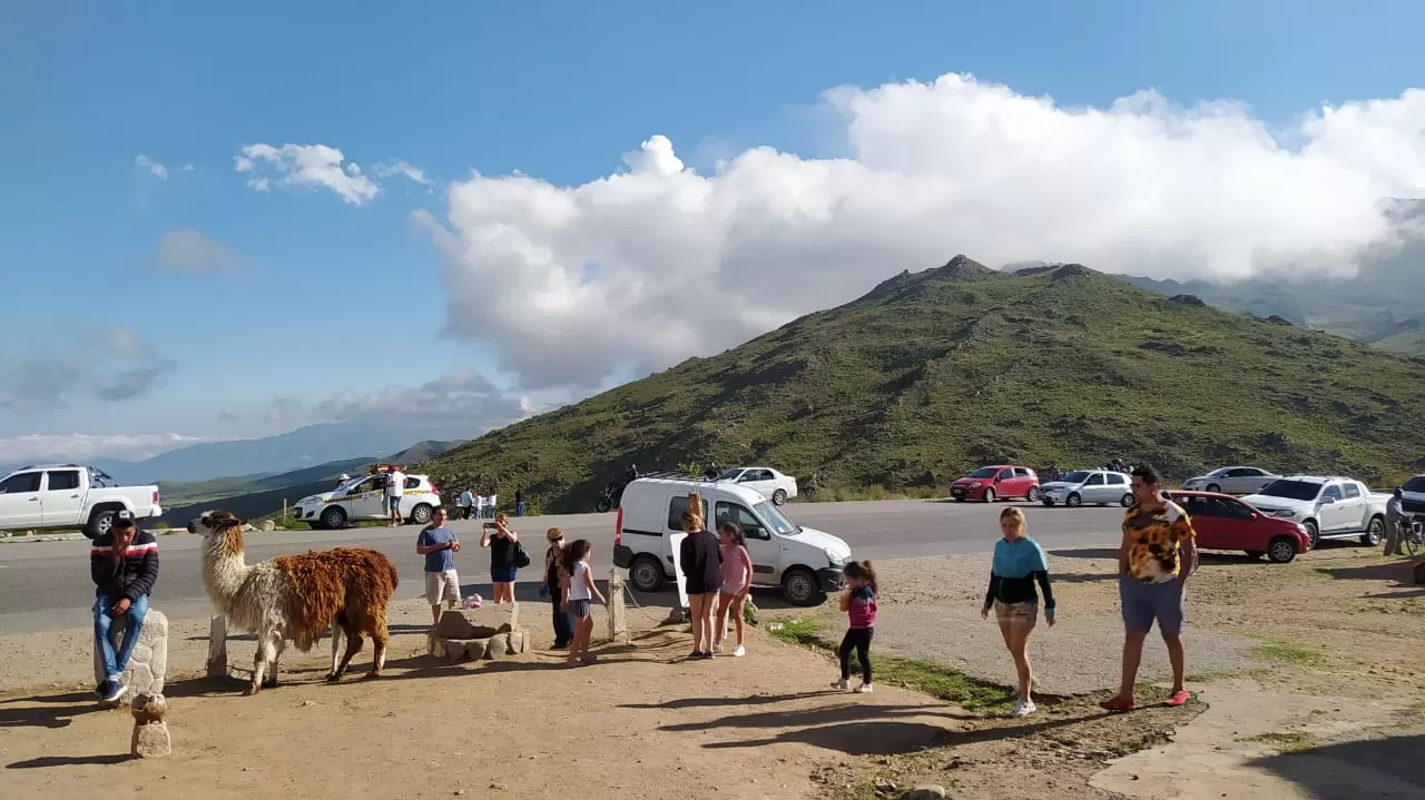
M 767 632 L 784 642 L 826 652 L 835 652 L 841 643 L 828 639 L 812 619 L 781 621 L 779 625 L 768 625 Z M 970 678 L 943 663 L 879 652 L 875 653 L 874 663 L 876 683 L 915 689 L 965 710 L 1003 712 L 1015 702 L 1015 689 Z M 859 669 L 855 666 L 855 655 L 852 665 L 855 675 Z

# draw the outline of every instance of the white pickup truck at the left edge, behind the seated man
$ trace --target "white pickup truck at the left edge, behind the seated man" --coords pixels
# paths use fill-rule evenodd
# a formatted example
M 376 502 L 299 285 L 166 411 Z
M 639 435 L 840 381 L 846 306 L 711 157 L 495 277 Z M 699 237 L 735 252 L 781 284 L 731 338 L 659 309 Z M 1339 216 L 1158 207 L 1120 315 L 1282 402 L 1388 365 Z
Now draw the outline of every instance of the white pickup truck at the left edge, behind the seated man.
M 134 520 L 161 515 L 158 487 L 120 487 L 103 470 L 78 464 L 37 464 L 0 478 L 0 530 L 81 528 L 94 538 L 108 532 L 118 511 Z

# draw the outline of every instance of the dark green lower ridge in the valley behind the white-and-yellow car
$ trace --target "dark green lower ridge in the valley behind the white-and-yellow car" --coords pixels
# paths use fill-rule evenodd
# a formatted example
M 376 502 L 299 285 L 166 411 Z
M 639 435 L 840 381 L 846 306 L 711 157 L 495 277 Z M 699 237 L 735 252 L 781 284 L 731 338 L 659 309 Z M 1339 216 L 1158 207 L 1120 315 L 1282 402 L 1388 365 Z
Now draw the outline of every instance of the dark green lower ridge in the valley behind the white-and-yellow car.
M 356 475 L 373 463 L 419 464 L 463 441 L 420 441 L 390 456 L 342 458 L 278 475 L 238 475 L 194 483 L 158 484 L 164 515 L 170 525 L 181 525 L 209 508 L 222 508 L 238 517 L 255 518 L 282 510 L 282 501 L 295 502 L 308 494 L 329 491 L 343 474 Z

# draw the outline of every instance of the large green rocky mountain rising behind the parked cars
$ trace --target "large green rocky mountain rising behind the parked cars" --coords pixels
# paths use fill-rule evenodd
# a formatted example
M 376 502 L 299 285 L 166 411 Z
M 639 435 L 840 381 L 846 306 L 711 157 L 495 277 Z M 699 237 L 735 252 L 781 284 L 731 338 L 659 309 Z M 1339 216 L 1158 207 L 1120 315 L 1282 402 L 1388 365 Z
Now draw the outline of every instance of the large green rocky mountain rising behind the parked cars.
M 945 485 L 985 463 L 1113 457 L 1186 477 L 1233 463 L 1425 465 L 1425 360 L 1164 298 L 1079 265 L 956 256 L 710 359 L 489 433 L 426 464 L 589 510 L 604 483 L 714 457 L 805 490 Z

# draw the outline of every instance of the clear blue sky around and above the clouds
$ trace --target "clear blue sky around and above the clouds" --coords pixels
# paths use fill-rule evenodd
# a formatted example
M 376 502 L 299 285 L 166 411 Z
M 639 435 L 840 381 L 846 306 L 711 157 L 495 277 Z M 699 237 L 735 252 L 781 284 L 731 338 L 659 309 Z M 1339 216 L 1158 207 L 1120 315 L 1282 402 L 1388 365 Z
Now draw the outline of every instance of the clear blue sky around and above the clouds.
M 1419 85 L 1422 27 L 1425 6 L 1406 1 L 11 3 L 0 401 L 20 380 L 53 401 L 0 407 L 0 440 L 265 434 L 343 393 L 341 413 L 390 413 L 400 387 L 456 367 L 512 397 L 587 393 L 526 380 L 502 360 L 509 340 L 479 323 L 442 335 L 450 266 L 412 212 L 445 222 L 446 186 L 472 171 L 586 184 L 654 134 L 704 174 L 757 145 L 846 155 L 821 93 L 945 73 L 1060 107 L 1146 88 L 1187 105 L 1240 100 L 1291 125 L 1322 102 Z M 259 192 L 234 161 L 259 142 L 333 147 L 365 175 L 403 161 L 430 185 L 388 177 L 362 204 L 321 186 Z M 175 231 L 198 232 L 218 253 L 205 265 L 227 269 L 165 265 L 158 242 Z M 479 275 L 459 285 L 462 313 L 483 313 Z M 138 344 L 115 344 L 114 327 Z M 123 359 L 152 367 L 151 390 L 86 391 Z M 601 381 L 664 362 L 627 360 Z M 83 366 L 66 383 L 37 379 L 36 363 Z M 279 397 L 304 411 L 274 419 Z

